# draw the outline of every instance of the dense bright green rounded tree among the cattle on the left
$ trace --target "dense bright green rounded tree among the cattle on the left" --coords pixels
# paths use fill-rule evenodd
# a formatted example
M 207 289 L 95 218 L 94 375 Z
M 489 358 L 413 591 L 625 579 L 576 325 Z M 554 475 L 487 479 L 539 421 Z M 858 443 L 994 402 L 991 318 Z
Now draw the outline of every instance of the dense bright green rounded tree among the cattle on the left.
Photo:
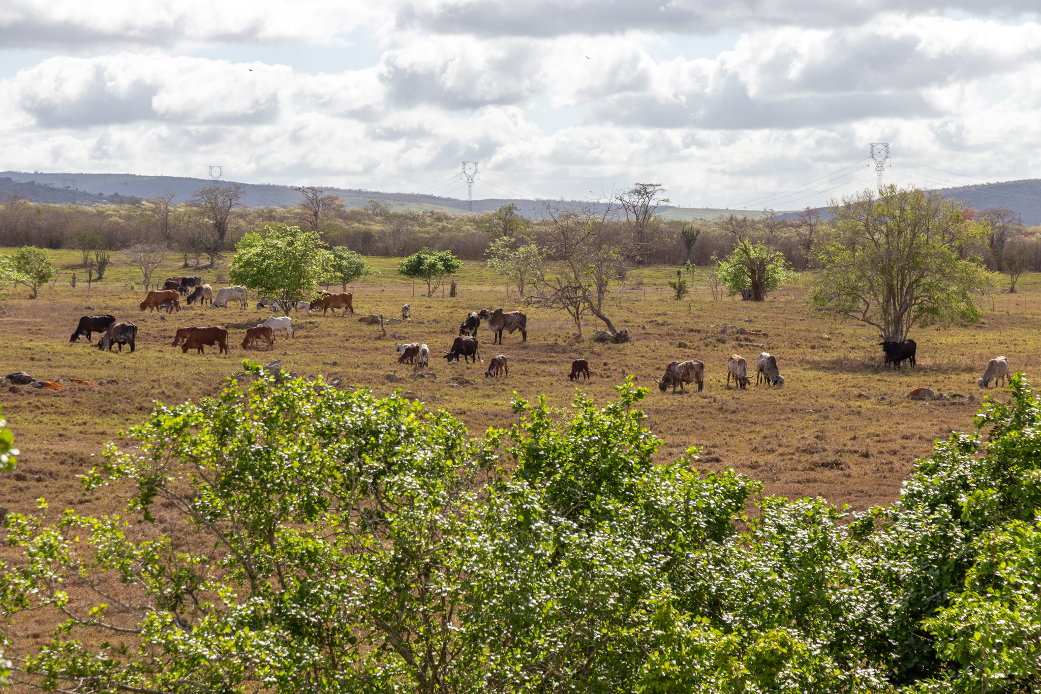
M 327 274 L 329 252 L 322 246 L 316 232 L 269 224 L 238 241 L 228 277 L 261 297 L 279 300 L 288 314 L 293 303 L 313 295 Z

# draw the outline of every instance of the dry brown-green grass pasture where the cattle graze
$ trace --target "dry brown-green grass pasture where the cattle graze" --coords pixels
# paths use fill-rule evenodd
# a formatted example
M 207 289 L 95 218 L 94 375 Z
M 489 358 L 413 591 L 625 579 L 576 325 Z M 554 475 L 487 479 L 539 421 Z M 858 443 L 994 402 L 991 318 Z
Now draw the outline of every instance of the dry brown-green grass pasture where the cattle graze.
M 479 435 L 487 427 L 507 427 L 512 420 L 514 392 L 534 400 L 544 393 L 551 406 L 565 415 L 576 389 L 603 404 L 614 397 L 614 386 L 626 375 L 636 378 L 651 392 L 642 404 L 646 426 L 663 445 L 662 461 L 678 458 L 691 445 L 703 447 L 702 467 L 731 466 L 761 479 L 766 493 L 788 497 L 823 496 L 854 509 L 893 500 L 900 481 L 915 458 L 924 456 L 937 437 L 951 430 L 972 431 L 972 415 L 985 394 L 1004 399 L 1004 391 L 977 388 L 975 380 L 987 361 L 1006 355 L 1013 370 L 1030 375 L 1036 350 L 1036 304 L 1041 287 L 1038 276 L 1025 276 L 1020 293 L 986 298 L 984 320 L 970 328 L 916 330 L 918 366 L 899 371 L 882 366 L 878 332 L 850 322 L 813 316 L 802 300 L 806 288 L 786 286 L 761 304 L 714 302 L 700 290 L 677 302 L 666 282 L 676 268 L 637 268 L 628 285 L 617 291 L 609 309 L 615 326 L 628 329 L 632 342 L 598 344 L 590 340 L 598 322 L 586 318 L 585 337 L 573 337 L 574 325 L 565 313 L 524 308 L 529 339 L 520 333 L 505 335 L 502 346 L 491 343 L 491 333 L 478 331 L 484 362 L 447 364 L 441 358 L 458 334 L 469 310 L 523 308 L 515 291 L 506 297 L 503 280 L 482 263 L 468 261 L 456 276 L 459 293 L 445 298 L 413 297 L 412 283 L 396 275 L 400 259 L 370 258 L 381 275 L 349 287 L 354 292 L 356 315 L 333 317 L 293 313 L 296 338 L 276 333 L 271 352 L 244 351 L 247 328 L 270 315 L 250 308 L 210 309 L 198 305 L 167 315 L 142 313 L 141 276 L 128 267 L 111 267 L 100 284 L 87 290 L 82 271 L 76 271 L 78 252 L 53 252 L 61 273 L 52 287 L 40 289 L 28 300 L 19 286 L 2 303 L 0 345 L 3 375 L 25 370 L 36 379 L 57 380 L 60 391 L 22 387 L 10 392 L 7 383 L 0 404 L 21 448 L 18 472 L 0 485 L 0 505 L 29 511 L 37 497 L 47 497 L 52 509 L 75 508 L 81 513 L 119 512 L 118 489 L 82 492 L 76 474 L 98 460 L 103 446 L 117 432 L 144 420 L 155 402 L 177 403 L 217 394 L 225 379 L 243 372 L 242 360 L 266 364 L 281 360 L 282 368 L 302 377 L 338 378 L 340 387 L 369 388 L 379 395 L 397 390 L 423 401 L 430 411 L 447 410 Z M 215 269 L 182 269 L 180 262 L 161 267 L 160 279 L 202 275 L 214 289 L 228 286 L 227 262 Z M 78 285 L 69 274 L 77 272 Z M 137 289 L 127 284 L 136 282 Z M 338 287 L 331 287 L 338 290 Z M 411 319 L 379 326 L 358 317 L 383 314 L 399 317 L 403 304 L 411 305 Z M 182 301 L 183 305 L 183 301 Z M 69 336 L 81 315 L 111 313 L 117 320 L 137 325 L 133 354 L 100 352 L 95 342 L 70 343 Z M 178 328 L 224 326 L 229 331 L 231 354 L 205 355 L 193 350 L 182 354 L 171 346 Z M 717 326 L 713 328 L 712 326 Z M 734 326 L 726 335 L 719 325 Z M 738 328 L 764 331 L 768 337 L 736 335 Z M 720 339 L 726 339 L 721 342 Z M 395 343 L 425 342 L 431 350 L 431 368 L 423 375 L 397 363 Z M 751 343 L 751 344 L 750 344 Z M 685 345 L 685 346 L 684 346 Z M 755 386 L 755 362 L 760 352 L 777 356 L 783 388 Z M 727 358 L 737 353 L 748 361 L 752 385 L 728 389 Z M 507 357 L 509 377 L 485 378 L 491 358 Z M 589 382 L 567 380 L 570 362 L 586 358 L 595 375 Z M 659 392 L 661 378 L 672 360 L 700 359 L 705 363 L 705 390 L 687 386 L 686 394 Z M 462 377 L 459 385 L 451 379 Z M 83 379 L 97 387 L 72 383 Z M 458 381 L 458 379 L 456 380 Z M 469 383 L 473 381 L 473 383 Z M 914 402 L 906 397 L 913 388 L 929 386 L 947 394 L 965 395 L 951 401 Z

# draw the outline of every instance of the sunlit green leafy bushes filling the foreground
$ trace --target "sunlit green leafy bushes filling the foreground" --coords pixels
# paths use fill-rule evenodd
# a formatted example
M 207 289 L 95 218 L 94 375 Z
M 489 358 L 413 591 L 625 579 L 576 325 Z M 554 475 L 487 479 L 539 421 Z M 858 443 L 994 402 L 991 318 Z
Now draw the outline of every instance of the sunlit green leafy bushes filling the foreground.
M 1039 684 L 1041 411 L 1021 376 L 854 514 L 761 498 L 618 387 L 469 438 L 302 380 L 159 407 L 84 475 L 128 518 L 8 516 L 12 679 L 75 692 L 1025 692 Z M 750 510 L 752 512 L 750 512 Z M 193 548 L 176 546 L 174 516 Z M 841 523 L 840 520 L 849 522 Z M 139 523 L 139 524 L 138 524 Z M 154 524 L 152 524 L 154 523 Z

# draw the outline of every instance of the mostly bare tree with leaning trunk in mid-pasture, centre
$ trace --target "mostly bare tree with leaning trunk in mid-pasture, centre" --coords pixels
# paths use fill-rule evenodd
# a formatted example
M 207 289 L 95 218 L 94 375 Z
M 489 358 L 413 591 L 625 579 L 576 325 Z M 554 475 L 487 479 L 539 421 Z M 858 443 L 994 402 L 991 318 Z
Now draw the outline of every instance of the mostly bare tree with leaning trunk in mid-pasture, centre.
M 537 308 L 566 310 L 580 334 L 585 310 L 603 320 L 611 334 L 617 332 L 604 308 L 611 283 L 628 269 L 631 249 L 603 241 L 606 234 L 602 232 L 612 211 L 610 206 L 598 212 L 591 206 L 575 209 L 543 203 L 539 231 L 556 265 L 539 271 L 528 303 Z

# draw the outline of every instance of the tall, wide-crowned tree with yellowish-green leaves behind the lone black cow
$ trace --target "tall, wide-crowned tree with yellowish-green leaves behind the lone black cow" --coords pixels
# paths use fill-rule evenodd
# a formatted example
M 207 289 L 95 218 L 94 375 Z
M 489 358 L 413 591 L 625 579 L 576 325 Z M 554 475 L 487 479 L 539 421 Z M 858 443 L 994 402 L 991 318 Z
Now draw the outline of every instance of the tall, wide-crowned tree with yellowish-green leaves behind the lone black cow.
M 829 208 L 833 229 L 820 236 L 812 290 L 820 311 L 850 317 L 907 339 L 915 326 L 968 325 L 981 316 L 973 292 L 991 284 L 977 258 L 962 250 L 987 229 L 936 191 L 890 185 Z

